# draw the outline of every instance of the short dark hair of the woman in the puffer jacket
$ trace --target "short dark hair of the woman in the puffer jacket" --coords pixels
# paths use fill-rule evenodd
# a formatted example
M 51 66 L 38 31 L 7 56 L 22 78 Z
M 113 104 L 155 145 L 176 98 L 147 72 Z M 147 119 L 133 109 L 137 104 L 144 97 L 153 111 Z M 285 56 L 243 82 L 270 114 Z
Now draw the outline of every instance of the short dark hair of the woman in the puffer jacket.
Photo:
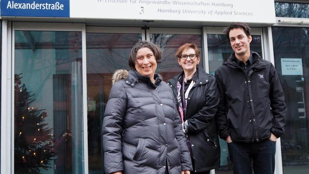
M 129 56 L 129 66 L 131 67 L 132 70 L 135 70 L 136 54 L 137 54 L 137 51 L 141 48 L 149 48 L 152 51 L 152 53 L 155 55 L 155 59 L 157 63 L 160 63 L 162 52 L 159 46 L 150 41 L 142 40 L 136 43 L 131 49 L 130 56 Z

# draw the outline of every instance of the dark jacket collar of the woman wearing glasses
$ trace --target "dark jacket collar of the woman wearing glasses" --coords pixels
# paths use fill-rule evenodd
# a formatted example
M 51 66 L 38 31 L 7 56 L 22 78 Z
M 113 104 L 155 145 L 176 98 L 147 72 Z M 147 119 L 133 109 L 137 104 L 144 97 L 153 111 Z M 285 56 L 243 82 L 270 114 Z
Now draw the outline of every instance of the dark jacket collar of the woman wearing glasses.
M 197 68 L 198 78 L 193 87 L 208 83 L 209 77 L 211 76 L 211 74 L 207 74 L 203 68 L 198 67 L 198 66 L 196 68 Z M 177 89 L 177 81 L 183 74 L 184 74 L 184 71 L 176 75 L 174 78 L 168 80 L 168 82 L 172 85 L 171 87 Z

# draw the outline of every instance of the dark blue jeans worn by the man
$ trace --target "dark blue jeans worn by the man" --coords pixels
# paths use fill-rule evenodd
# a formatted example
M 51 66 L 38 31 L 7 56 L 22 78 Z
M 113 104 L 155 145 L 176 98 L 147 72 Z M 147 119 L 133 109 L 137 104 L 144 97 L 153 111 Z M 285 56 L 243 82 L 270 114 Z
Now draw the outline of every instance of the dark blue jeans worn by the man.
M 276 142 L 266 139 L 261 142 L 227 143 L 234 174 L 251 174 L 253 159 L 254 174 L 273 174 L 275 172 Z

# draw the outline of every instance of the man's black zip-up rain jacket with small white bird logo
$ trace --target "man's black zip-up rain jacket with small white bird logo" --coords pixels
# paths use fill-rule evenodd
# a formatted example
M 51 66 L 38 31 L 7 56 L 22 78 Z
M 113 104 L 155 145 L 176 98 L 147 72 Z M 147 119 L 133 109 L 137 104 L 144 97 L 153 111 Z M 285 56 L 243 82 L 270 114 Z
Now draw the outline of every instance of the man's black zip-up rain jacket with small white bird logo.
M 248 74 L 235 62 L 232 53 L 215 72 L 220 103 L 216 115 L 219 136 L 232 141 L 259 142 L 273 133 L 283 134 L 286 104 L 273 64 L 251 52 Z

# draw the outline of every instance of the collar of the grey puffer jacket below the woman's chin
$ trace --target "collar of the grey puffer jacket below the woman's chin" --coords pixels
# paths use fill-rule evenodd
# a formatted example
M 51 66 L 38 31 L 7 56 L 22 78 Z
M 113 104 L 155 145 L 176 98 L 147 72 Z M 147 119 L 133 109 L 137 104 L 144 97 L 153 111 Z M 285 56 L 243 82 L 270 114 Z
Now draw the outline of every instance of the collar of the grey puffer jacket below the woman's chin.
M 160 74 L 155 73 L 154 78 L 155 78 L 155 84 L 151 82 L 150 77 L 143 76 L 136 70 L 129 70 L 129 74 L 128 74 L 127 79 L 125 80 L 125 83 L 131 87 L 134 87 L 135 83 L 137 83 L 138 81 L 141 81 L 148 85 L 157 87 L 162 82 L 162 77 Z

